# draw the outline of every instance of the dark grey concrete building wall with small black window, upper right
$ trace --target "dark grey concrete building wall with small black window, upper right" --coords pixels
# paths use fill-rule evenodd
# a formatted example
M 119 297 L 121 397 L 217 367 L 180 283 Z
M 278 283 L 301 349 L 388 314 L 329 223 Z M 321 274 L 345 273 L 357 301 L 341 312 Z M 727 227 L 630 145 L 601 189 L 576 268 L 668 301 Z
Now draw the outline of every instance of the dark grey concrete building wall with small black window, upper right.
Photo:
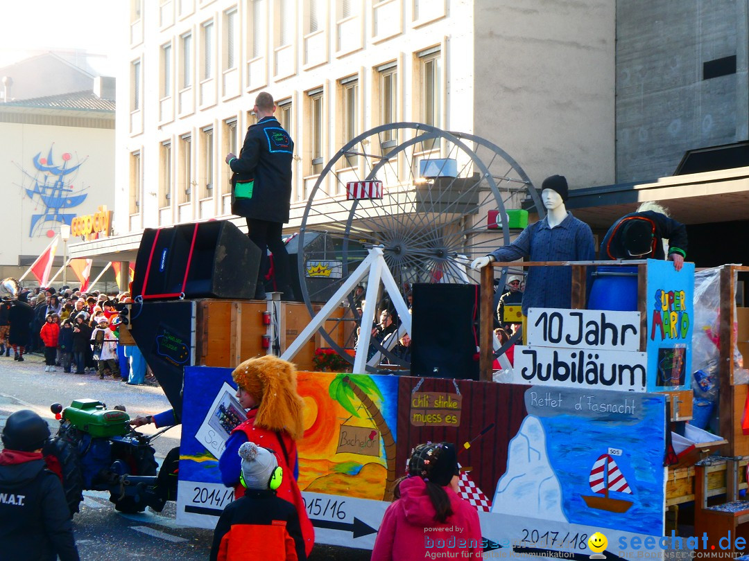
M 616 1 L 616 181 L 749 139 L 748 4 Z

